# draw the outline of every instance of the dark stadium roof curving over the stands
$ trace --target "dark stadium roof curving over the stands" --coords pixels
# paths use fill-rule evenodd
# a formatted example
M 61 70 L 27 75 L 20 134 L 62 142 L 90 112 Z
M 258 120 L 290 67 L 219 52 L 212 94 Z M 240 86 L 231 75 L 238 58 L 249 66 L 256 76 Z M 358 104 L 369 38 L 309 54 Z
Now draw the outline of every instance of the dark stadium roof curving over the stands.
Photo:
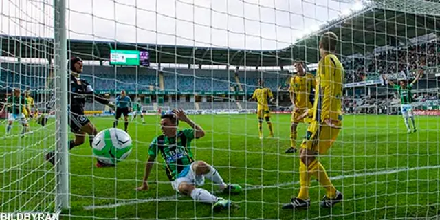
M 388 1 L 385 2 L 384 1 Z M 394 3 L 391 3 L 391 1 Z M 440 30 L 439 3 L 415 3 L 399 5 L 398 0 L 383 0 L 354 14 L 329 22 L 327 25 L 296 41 L 282 50 L 237 50 L 212 47 L 182 47 L 175 45 L 135 44 L 122 42 L 69 40 L 69 56 L 81 56 L 85 60 L 108 61 L 111 49 L 148 50 L 152 63 L 186 63 L 198 65 L 235 66 L 284 66 L 292 60 L 317 63 L 318 38 L 332 31 L 341 43 L 338 54 L 365 54 L 376 47 L 391 43 L 406 43 L 416 36 Z M 403 2 L 403 1 L 402 1 Z M 423 2 L 423 1 L 422 1 Z M 414 3 L 414 4 L 415 4 Z M 430 5 L 432 4 L 432 5 Z M 420 6 L 421 5 L 421 6 Z M 437 8 L 436 8 L 437 7 Z M 423 13 L 424 12 L 424 13 Z M 1 56 L 47 58 L 53 39 L 1 35 Z M 32 48 L 32 49 L 31 49 Z

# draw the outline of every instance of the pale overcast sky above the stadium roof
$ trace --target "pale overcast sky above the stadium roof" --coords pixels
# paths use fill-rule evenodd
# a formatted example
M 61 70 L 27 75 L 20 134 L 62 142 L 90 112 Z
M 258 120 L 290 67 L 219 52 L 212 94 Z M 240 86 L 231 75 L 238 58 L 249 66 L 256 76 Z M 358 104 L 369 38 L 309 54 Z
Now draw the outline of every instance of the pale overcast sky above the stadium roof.
M 0 7 L 1 34 L 53 36 L 52 0 L 2 0 Z M 331 0 L 67 0 L 67 36 L 272 50 L 351 7 Z

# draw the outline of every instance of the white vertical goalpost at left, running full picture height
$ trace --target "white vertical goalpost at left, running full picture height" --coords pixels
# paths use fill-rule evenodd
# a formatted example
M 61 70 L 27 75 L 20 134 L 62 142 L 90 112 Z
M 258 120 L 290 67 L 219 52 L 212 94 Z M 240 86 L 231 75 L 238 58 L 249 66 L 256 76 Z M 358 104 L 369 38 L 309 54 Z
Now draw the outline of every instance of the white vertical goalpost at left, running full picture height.
M 54 59 L 56 77 L 56 210 L 69 208 L 69 146 L 67 125 L 66 2 L 54 0 Z

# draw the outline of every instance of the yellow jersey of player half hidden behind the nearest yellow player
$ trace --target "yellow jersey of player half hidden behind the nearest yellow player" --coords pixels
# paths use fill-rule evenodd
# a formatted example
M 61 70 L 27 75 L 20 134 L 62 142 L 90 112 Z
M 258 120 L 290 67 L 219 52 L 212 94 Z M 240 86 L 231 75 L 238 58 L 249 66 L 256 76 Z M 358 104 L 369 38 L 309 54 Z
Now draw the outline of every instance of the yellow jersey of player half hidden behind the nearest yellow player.
M 306 73 L 304 76 L 299 76 L 298 74 L 292 76 L 289 91 L 295 94 L 295 107 L 299 109 L 311 109 L 314 104 L 312 89 L 315 87 L 315 77 L 310 73 Z

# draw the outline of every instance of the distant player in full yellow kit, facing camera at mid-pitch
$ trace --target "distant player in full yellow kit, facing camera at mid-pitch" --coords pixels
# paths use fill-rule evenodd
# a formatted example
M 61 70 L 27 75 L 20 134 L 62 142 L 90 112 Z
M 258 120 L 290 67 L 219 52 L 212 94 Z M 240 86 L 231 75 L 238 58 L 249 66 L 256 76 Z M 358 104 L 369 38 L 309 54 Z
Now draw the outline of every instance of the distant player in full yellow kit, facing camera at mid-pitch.
M 264 87 L 264 81 L 259 79 L 259 87 L 255 89 L 254 94 L 252 94 L 252 98 L 250 100 L 256 100 L 257 102 L 257 117 L 259 118 L 259 135 L 260 139 L 263 139 L 263 118 L 267 122 L 267 126 L 269 127 L 270 135 L 269 137 L 274 137 L 274 130 L 272 129 L 272 122 L 270 122 L 270 109 L 269 102 L 272 102 L 274 99 L 274 94 L 272 91 Z

